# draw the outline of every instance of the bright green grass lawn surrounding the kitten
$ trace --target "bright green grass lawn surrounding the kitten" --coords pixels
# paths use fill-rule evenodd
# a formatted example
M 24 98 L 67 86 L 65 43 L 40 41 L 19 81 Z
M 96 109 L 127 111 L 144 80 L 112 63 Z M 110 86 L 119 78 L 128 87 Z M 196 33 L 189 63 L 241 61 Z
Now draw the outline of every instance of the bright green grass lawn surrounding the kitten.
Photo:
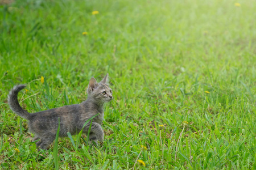
M 17 0 L 0 10 L 0 169 L 131 169 L 141 145 L 141 169 L 256 169 L 255 1 Z M 39 152 L 7 105 L 19 83 L 31 113 L 81 103 L 106 73 L 116 101 L 99 147 L 82 135 Z

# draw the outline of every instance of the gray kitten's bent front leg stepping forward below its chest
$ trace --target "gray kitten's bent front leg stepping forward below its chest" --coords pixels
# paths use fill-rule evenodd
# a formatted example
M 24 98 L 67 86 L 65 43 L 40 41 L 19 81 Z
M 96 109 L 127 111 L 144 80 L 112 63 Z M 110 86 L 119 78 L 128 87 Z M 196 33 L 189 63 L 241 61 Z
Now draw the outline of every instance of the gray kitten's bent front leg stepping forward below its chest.
M 85 133 L 88 132 L 90 127 L 90 123 L 85 126 Z M 96 122 L 92 122 L 92 126 L 90 128 L 90 134 L 89 134 L 89 141 L 94 141 L 97 143 L 97 141 L 103 142 L 104 141 L 104 132 L 101 128 L 100 124 L 97 124 Z

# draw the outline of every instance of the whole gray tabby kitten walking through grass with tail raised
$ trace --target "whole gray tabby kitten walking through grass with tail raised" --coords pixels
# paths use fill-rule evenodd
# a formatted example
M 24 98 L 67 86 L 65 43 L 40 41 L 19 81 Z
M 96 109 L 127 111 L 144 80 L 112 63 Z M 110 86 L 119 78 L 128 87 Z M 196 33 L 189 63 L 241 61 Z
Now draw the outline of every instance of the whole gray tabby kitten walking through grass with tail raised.
M 18 92 L 25 88 L 24 84 L 15 86 L 8 95 L 8 103 L 11 110 L 22 118 L 28 120 L 28 126 L 32 133 L 35 133 L 33 141 L 36 142 L 38 148 L 44 150 L 54 141 L 59 126 L 60 120 L 60 137 L 67 137 L 67 132 L 75 135 L 82 130 L 85 122 L 89 118 L 100 113 L 93 118 L 92 126 L 89 133 L 89 141 L 102 142 L 104 140 L 104 132 L 101 128 L 104 118 L 103 105 L 112 100 L 112 90 L 108 84 L 109 75 L 106 74 L 100 83 L 96 79 L 90 79 L 87 88 L 88 98 L 81 104 L 65 105 L 64 107 L 49 109 L 47 111 L 28 113 L 18 102 Z M 90 121 L 82 130 L 83 133 L 88 133 Z

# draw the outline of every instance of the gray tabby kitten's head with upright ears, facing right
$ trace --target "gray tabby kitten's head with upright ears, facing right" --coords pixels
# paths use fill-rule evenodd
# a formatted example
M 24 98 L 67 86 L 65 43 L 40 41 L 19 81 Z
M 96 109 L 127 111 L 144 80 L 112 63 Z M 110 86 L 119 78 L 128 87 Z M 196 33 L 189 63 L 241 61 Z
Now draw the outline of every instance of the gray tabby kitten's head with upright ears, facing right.
M 109 87 L 109 74 L 101 80 L 100 83 L 97 83 L 96 79 L 91 78 L 89 86 L 87 88 L 87 94 L 97 103 L 109 102 L 113 99 L 112 89 Z

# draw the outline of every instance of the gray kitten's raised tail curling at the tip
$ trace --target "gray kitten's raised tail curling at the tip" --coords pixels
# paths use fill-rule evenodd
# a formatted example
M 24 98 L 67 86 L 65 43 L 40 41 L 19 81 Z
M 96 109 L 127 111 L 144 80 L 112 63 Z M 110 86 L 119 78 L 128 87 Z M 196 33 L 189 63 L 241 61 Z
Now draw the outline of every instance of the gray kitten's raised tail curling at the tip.
M 20 107 L 19 101 L 18 101 L 18 93 L 20 90 L 22 90 L 25 87 L 26 87 L 26 85 L 24 85 L 24 84 L 14 86 L 14 88 L 9 92 L 8 103 L 10 105 L 11 110 L 14 113 L 18 114 L 18 116 L 20 116 L 22 118 L 29 119 L 31 117 L 31 114 L 28 113 L 27 111 L 25 111 L 24 109 L 22 109 L 22 107 Z

